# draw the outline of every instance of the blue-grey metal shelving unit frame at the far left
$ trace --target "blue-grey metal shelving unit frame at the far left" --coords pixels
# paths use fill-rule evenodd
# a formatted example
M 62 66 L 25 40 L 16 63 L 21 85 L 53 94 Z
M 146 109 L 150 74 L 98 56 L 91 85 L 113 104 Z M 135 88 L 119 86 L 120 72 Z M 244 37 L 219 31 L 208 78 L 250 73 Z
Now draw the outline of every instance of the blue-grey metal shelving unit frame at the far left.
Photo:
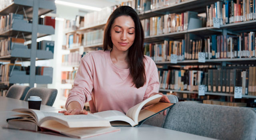
M 20 37 L 26 41 L 31 40 L 31 48 L 21 44 L 14 44 L 10 54 L 1 56 L 1 61 L 14 63 L 16 58 L 22 61 L 30 61 L 30 74 L 26 71 L 12 71 L 8 82 L 4 84 L 29 83 L 30 88 L 34 84 L 52 83 L 52 75 L 36 75 L 36 60 L 53 59 L 53 52 L 46 50 L 37 50 L 36 39 L 54 34 L 54 28 L 48 25 L 38 24 L 38 17 L 48 12 L 56 10 L 54 0 L 12 0 L 6 7 L 1 7 L 0 15 L 9 13 L 25 14 L 26 20 L 13 20 L 12 27 L 4 32 L 0 32 L 0 37 Z M 28 22 L 32 20 L 31 22 Z

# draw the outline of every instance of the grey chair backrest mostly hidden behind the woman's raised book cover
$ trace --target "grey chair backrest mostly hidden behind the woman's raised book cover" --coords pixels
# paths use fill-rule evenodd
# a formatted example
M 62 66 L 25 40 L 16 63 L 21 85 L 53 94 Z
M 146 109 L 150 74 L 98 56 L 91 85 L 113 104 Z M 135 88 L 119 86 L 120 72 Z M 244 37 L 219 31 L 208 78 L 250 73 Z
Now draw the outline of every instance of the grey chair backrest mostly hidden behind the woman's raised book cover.
M 171 103 L 176 104 L 177 102 L 179 102 L 177 96 L 175 96 L 175 95 L 167 95 L 167 97 Z M 167 109 L 166 111 L 168 113 L 169 109 Z M 148 125 L 157 126 L 157 127 L 163 127 L 165 118 L 166 118 L 166 116 L 164 116 L 163 113 L 156 114 L 155 116 L 146 120 L 143 124 L 148 124 Z

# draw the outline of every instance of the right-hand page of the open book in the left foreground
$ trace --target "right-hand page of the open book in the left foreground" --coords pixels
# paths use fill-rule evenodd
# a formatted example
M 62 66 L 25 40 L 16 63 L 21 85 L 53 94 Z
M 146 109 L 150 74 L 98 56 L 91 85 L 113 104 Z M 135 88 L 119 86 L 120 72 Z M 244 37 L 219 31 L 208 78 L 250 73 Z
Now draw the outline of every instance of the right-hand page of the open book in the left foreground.
M 54 120 L 69 128 L 111 126 L 108 120 L 94 114 L 48 116 L 40 121 L 39 126 L 44 126 L 46 120 Z

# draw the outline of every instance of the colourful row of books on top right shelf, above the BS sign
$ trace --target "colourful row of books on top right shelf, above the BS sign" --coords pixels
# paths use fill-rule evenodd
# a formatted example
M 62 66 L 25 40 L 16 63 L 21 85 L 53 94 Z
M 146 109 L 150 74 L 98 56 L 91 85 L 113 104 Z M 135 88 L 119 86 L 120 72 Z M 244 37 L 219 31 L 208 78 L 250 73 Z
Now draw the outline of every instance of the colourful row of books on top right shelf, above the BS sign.
M 207 26 L 213 26 L 213 18 L 220 24 L 229 24 L 256 19 L 255 0 L 226 0 L 206 6 Z

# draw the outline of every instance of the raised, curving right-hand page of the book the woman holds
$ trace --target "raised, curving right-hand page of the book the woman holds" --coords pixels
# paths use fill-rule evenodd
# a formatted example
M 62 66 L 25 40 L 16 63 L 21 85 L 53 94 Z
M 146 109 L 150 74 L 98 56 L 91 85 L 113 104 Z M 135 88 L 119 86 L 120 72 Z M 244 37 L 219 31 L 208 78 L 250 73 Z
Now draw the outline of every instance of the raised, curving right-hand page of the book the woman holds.
M 143 106 L 149 106 L 151 104 L 156 104 L 160 101 L 162 98 L 162 95 L 156 94 L 154 96 L 151 96 L 150 98 L 144 100 L 143 102 L 133 106 L 126 112 L 126 116 L 134 120 L 136 124 L 138 124 L 138 116 L 140 113 L 140 110 L 143 108 Z

